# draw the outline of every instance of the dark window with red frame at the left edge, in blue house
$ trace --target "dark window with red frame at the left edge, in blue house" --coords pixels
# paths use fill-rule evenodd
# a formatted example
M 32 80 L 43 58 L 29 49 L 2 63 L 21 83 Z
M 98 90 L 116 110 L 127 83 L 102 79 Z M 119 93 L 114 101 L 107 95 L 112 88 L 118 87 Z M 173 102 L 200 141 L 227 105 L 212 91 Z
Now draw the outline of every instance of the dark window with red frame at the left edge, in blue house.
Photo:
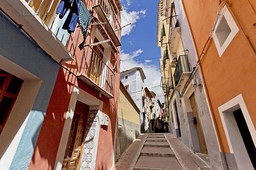
M 0 134 L 17 99 L 23 80 L 0 69 Z

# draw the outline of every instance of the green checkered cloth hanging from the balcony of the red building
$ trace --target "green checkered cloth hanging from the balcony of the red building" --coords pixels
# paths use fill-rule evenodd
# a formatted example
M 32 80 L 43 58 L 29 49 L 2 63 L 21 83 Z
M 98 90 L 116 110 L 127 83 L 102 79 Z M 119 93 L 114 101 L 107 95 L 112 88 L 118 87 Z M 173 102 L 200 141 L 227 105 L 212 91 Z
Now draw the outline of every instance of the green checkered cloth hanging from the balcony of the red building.
M 78 45 L 79 49 L 82 50 L 84 43 L 86 42 L 86 36 L 89 31 L 91 21 L 93 19 L 93 11 L 89 11 L 86 5 L 81 1 L 79 10 L 78 24 L 82 29 L 83 41 Z

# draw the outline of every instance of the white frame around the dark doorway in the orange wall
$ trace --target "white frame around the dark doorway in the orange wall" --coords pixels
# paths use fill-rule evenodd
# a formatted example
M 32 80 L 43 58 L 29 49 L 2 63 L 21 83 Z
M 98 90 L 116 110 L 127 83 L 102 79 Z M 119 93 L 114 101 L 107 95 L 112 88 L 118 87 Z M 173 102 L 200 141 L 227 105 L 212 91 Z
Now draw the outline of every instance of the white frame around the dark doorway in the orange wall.
M 234 154 L 239 169 L 253 169 L 249 155 L 245 148 L 243 139 L 238 129 L 236 120 L 232 114 L 233 111 L 242 110 L 246 124 L 250 131 L 251 138 L 256 147 L 256 131 L 250 118 L 249 112 L 245 105 L 242 94 L 237 95 L 230 101 L 226 102 L 218 108 L 221 123 L 226 135 L 229 151 Z

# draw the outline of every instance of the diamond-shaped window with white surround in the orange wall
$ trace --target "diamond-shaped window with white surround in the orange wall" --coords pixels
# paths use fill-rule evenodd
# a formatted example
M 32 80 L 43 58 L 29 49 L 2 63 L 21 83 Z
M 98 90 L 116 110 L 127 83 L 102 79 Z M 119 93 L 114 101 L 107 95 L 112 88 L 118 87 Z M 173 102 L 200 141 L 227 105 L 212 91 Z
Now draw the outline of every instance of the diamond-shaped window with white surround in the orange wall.
M 225 6 L 217 22 L 214 34 L 212 35 L 220 57 L 238 31 L 239 29 L 236 22 L 233 20 L 232 15 Z

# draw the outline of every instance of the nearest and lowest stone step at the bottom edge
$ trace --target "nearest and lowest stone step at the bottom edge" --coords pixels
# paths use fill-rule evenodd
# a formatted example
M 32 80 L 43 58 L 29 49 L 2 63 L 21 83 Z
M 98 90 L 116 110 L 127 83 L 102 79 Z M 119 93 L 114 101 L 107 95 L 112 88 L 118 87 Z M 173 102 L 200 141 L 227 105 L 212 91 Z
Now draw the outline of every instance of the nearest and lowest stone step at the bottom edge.
M 159 169 L 172 169 L 182 170 L 178 160 L 175 157 L 150 157 L 140 156 L 136 162 L 134 170 L 159 170 Z

